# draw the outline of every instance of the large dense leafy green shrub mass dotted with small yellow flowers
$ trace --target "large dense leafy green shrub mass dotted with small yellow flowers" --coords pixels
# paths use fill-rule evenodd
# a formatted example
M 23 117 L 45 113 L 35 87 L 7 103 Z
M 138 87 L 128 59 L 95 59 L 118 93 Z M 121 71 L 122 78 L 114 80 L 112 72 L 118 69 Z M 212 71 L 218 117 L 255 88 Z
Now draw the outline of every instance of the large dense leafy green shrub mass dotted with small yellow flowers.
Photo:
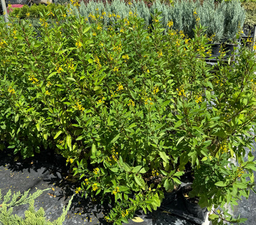
M 40 38 L 28 20 L 0 23 L 6 146 L 24 157 L 33 151 L 17 148 L 31 138 L 57 149 L 79 175 L 76 191 L 111 202 L 106 219 L 115 224 L 138 208 L 156 210 L 183 175 L 193 178 L 199 205 L 223 209 L 210 215 L 214 224 L 243 221 L 225 214 L 225 203 L 254 187 L 255 161 L 251 153 L 244 161 L 244 148 L 255 140 L 255 53 L 240 49 L 226 62 L 222 53 L 208 65 L 209 39 L 196 17 L 192 39 L 170 21 L 164 35 L 156 12 L 150 28 L 134 13 L 108 25 L 70 9 L 51 26 L 49 19 L 46 12 L 40 20 Z

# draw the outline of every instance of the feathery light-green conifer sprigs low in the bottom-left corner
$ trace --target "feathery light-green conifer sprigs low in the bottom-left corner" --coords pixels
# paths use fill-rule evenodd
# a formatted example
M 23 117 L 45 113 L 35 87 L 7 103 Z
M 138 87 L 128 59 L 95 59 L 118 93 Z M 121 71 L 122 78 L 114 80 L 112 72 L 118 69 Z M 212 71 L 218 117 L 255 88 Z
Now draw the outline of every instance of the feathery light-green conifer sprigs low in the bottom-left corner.
M 47 191 L 45 190 L 38 190 L 34 192 L 33 194 L 28 195 L 28 191 L 25 191 L 23 194 L 20 194 L 20 192 L 13 193 L 9 190 L 7 194 L 2 198 L 1 195 L 1 189 L 0 189 L 0 224 L 1 225 L 13 225 L 13 224 L 20 224 L 20 225 L 28 225 L 28 224 L 41 224 L 41 225 L 61 225 L 64 220 L 66 213 L 68 213 L 68 210 L 70 209 L 70 205 L 73 199 L 73 196 L 71 197 L 70 201 L 68 202 L 67 207 L 63 208 L 62 215 L 56 219 L 53 222 L 50 222 L 49 219 L 44 217 L 44 209 L 39 208 L 38 211 L 34 209 L 34 199 L 39 197 L 39 195 L 42 194 L 42 192 Z M 12 197 L 11 197 L 12 196 Z M 14 207 L 20 206 L 20 205 L 27 205 L 29 204 L 30 207 L 28 210 L 25 211 L 25 218 L 22 218 L 17 215 L 12 215 L 12 211 L 14 210 Z

